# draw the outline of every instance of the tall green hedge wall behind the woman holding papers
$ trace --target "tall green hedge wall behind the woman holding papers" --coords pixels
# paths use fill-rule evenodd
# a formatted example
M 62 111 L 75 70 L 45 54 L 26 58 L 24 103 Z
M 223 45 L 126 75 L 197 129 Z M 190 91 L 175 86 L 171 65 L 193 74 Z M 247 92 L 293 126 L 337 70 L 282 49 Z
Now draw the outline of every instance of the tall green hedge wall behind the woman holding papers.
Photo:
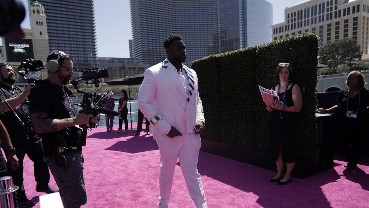
M 316 34 L 303 33 L 193 61 L 206 118 L 201 137 L 269 152 L 270 113 L 258 85 L 271 88 L 277 64 L 290 63 L 303 96 L 299 157 L 313 156 L 318 50 Z

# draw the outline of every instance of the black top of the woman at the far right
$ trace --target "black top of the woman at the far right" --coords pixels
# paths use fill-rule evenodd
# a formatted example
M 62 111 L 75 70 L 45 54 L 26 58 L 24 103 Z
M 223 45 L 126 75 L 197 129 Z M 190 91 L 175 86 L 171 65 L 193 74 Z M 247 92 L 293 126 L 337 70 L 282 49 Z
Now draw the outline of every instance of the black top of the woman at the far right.
M 347 97 L 348 97 L 348 89 L 341 90 L 338 94 L 337 102 L 341 103 L 341 109 L 339 115 L 341 117 L 341 121 L 343 122 L 355 122 L 361 123 L 364 121 L 368 121 L 368 102 L 369 102 L 369 93 L 365 88 L 361 88 L 360 90 L 360 106 L 359 106 L 359 93 L 357 93 L 354 97 L 348 99 L 348 108 L 347 108 Z M 358 111 L 359 106 L 359 111 Z M 347 110 L 358 112 L 356 118 L 347 117 Z

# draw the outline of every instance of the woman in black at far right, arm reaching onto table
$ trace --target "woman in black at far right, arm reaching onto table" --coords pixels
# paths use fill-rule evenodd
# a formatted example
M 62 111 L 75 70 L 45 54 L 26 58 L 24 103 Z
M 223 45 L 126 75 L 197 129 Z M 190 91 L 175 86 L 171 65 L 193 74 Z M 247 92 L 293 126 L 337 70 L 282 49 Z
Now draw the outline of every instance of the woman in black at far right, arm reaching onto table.
M 364 75 L 351 71 L 346 79 L 347 89 L 342 90 L 337 97 L 337 105 L 331 108 L 319 108 L 318 113 L 339 112 L 339 139 L 345 149 L 348 169 L 356 169 L 360 158 L 361 140 L 366 138 L 368 125 L 369 93 L 364 88 Z

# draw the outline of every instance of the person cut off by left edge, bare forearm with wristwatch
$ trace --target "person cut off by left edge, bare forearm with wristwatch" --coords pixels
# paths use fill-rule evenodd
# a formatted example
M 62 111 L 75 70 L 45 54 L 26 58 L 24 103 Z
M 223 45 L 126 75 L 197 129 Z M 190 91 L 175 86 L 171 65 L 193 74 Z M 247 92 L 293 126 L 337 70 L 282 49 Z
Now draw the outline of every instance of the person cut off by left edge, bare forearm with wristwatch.
M 3 117 L 4 113 L 0 109 L 0 118 Z M 8 165 L 11 168 L 11 170 L 16 170 L 18 168 L 18 158 L 17 155 L 15 155 L 15 148 L 11 144 L 9 134 L 3 124 L 0 120 L 0 141 L 1 145 L 5 147 L 5 149 L 8 152 Z M 7 162 L 4 160 L 3 153 L 0 151 L 0 177 L 3 176 L 11 176 L 9 169 L 7 168 Z M 14 198 L 14 208 L 18 207 L 17 203 L 17 193 L 14 192 L 13 194 Z

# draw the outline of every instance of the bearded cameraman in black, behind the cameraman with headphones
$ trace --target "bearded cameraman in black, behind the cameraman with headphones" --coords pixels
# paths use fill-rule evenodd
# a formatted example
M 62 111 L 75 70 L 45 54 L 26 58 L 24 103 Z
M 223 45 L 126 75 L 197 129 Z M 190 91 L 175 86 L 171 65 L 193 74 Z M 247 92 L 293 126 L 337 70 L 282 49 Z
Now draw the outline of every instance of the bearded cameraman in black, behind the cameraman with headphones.
M 18 206 L 33 207 L 35 202 L 27 199 L 23 186 L 23 160 L 25 154 L 34 162 L 34 176 L 37 182 L 36 191 L 47 194 L 58 191 L 48 185 L 50 174 L 46 163 L 42 159 L 42 140 L 32 131 L 28 105 L 25 103 L 28 100 L 27 96 L 30 94 L 30 89 L 35 84 L 28 84 L 26 88 L 13 85 L 15 74 L 13 68 L 8 63 L 0 63 L 0 75 L 0 109 L 4 112 L 1 121 L 7 128 L 15 149 L 6 151 L 4 146 L 2 148 L 7 157 L 9 153 L 14 152 L 19 158 L 19 167 L 10 171 L 14 184 L 19 186 L 17 191 Z M 10 111 L 5 101 L 8 102 L 10 107 L 24 122 L 24 126 L 20 124 L 14 113 Z

